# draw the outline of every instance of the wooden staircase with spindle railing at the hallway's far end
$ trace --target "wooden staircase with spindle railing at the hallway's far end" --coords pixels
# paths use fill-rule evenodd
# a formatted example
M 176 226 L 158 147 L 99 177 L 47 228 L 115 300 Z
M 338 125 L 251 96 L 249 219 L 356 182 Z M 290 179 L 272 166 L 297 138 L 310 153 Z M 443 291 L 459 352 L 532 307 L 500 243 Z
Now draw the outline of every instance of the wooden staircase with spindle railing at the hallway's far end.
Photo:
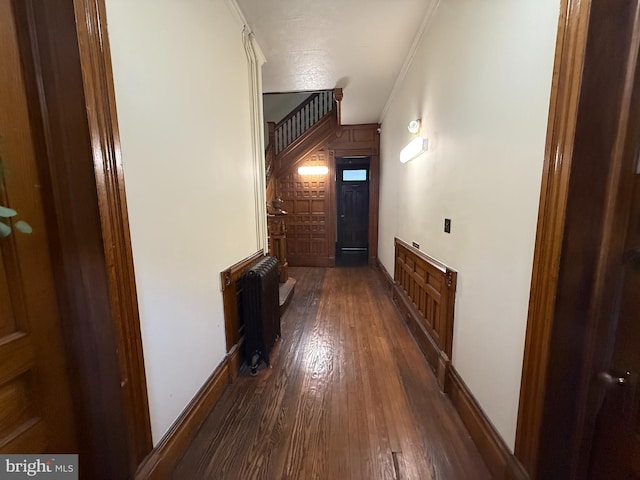
M 325 142 L 340 128 L 341 101 L 341 88 L 316 92 L 279 123 L 268 122 L 265 170 L 269 201 L 274 197 L 273 173 Z

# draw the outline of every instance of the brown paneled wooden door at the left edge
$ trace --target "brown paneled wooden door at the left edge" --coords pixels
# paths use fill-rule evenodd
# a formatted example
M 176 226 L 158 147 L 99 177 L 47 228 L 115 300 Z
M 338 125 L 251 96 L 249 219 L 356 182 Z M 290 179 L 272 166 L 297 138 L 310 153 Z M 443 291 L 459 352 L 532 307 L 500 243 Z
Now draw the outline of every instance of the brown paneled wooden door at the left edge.
M 0 451 L 74 453 L 70 382 L 11 0 L 0 0 L 0 19 L 0 205 L 33 230 L 14 228 L 0 238 Z

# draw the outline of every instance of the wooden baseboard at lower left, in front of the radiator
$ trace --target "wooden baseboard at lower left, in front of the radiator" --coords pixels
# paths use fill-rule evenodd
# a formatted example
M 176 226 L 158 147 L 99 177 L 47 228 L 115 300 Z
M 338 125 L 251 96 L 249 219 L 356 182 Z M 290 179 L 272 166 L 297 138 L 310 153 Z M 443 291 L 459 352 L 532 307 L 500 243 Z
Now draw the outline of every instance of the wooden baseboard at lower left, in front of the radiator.
M 170 478 L 202 423 L 222 396 L 229 380 L 229 357 L 227 356 L 187 405 L 187 408 L 184 409 L 160 443 L 140 464 L 136 480 Z

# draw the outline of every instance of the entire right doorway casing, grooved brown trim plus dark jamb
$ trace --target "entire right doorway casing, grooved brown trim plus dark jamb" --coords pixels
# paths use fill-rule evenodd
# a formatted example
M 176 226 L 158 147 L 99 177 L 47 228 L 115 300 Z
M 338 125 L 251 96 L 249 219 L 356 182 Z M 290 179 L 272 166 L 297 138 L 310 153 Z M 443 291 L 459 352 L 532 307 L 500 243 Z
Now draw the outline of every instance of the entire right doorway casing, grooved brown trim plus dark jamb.
M 637 1 L 561 7 L 515 449 L 531 479 L 586 478 L 637 60 Z

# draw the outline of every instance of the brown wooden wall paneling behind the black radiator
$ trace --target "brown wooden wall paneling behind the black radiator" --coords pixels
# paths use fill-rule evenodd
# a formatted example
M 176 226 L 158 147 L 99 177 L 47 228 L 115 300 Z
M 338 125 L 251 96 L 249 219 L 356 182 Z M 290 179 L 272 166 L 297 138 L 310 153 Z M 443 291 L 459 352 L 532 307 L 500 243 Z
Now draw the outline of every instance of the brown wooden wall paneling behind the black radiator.
M 242 365 L 243 328 L 238 311 L 238 280 L 254 263 L 264 257 L 262 250 L 249 255 L 220 273 L 222 301 L 224 305 L 224 331 L 227 341 L 229 375 L 235 380 Z

